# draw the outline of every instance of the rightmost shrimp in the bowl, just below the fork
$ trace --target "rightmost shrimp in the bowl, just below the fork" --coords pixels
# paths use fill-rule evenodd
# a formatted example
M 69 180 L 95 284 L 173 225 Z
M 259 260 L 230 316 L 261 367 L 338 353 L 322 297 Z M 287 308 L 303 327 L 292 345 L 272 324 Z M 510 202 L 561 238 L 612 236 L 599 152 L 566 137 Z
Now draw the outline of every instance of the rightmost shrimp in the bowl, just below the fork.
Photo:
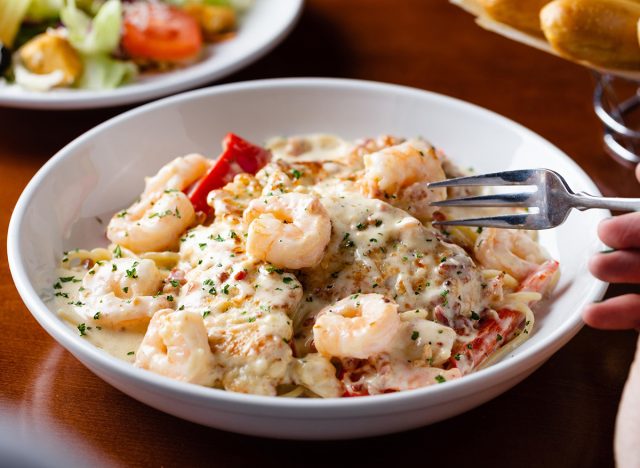
M 474 253 L 485 268 L 505 271 L 518 281 L 549 258 L 527 232 L 511 229 L 485 229 L 476 240 Z

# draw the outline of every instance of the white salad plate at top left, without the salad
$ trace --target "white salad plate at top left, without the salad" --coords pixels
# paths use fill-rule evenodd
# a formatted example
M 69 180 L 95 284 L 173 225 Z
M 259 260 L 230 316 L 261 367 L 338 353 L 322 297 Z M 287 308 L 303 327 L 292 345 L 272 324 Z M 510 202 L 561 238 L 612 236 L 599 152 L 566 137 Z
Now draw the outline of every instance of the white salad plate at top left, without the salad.
M 295 26 L 304 0 L 258 0 L 243 14 L 236 35 L 205 46 L 198 62 L 163 73 L 141 74 L 115 89 L 25 90 L 0 83 L 0 106 L 28 109 L 92 109 L 149 101 L 209 83 L 258 60 Z

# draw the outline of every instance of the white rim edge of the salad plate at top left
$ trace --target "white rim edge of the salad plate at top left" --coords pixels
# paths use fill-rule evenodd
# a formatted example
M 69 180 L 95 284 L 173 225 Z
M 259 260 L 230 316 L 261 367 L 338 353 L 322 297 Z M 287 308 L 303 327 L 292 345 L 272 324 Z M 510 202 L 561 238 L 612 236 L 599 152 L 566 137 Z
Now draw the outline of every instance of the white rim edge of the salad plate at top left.
M 287 37 L 302 14 L 304 0 L 285 1 L 287 5 L 290 5 L 287 10 L 288 16 L 282 18 L 282 21 L 269 31 L 262 42 L 253 44 L 237 60 L 225 67 L 218 67 L 215 63 L 215 56 L 213 56 L 208 59 L 212 61 L 211 67 L 192 73 L 188 72 L 187 67 L 184 70 L 187 72 L 186 76 L 179 74 L 168 79 L 160 77 L 157 80 L 136 86 L 123 86 L 113 90 L 95 92 L 79 91 L 77 94 L 73 92 L 44 93 L 44 95 L 38 92 L 12 93 L 3 92 L 0 88 L 0 106 L 42 110 L 98 109 L 149 101 L 223 78 L 263 57 Z

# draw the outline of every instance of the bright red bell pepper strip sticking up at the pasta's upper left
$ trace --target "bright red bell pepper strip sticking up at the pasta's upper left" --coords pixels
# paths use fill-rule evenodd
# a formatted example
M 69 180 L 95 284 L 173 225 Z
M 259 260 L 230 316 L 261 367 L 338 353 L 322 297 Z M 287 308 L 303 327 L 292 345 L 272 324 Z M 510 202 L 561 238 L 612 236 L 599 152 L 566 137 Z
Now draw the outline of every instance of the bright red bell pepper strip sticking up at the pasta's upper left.
M 212 190 L 224 187 L 237 174 L 255 174 L 271 160 L 271 152 L 249 143 L 238 135 L 228 133 L 222 141 L 222 154 L 202 179 L 193 185 L 189 200 L 196 211 L 209 213 L 207 195 Z

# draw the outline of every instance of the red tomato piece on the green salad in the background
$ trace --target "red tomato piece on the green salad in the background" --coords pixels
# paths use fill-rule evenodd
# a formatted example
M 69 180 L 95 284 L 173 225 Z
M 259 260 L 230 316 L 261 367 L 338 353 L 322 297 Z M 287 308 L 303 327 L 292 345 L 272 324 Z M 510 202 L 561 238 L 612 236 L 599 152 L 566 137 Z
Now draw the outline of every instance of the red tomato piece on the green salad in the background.
M 124 13 L 122 47 L 134 59 L 179 62 L 202 49 L 202 32 L 195 19 L 163 3 L 136 2 Z

